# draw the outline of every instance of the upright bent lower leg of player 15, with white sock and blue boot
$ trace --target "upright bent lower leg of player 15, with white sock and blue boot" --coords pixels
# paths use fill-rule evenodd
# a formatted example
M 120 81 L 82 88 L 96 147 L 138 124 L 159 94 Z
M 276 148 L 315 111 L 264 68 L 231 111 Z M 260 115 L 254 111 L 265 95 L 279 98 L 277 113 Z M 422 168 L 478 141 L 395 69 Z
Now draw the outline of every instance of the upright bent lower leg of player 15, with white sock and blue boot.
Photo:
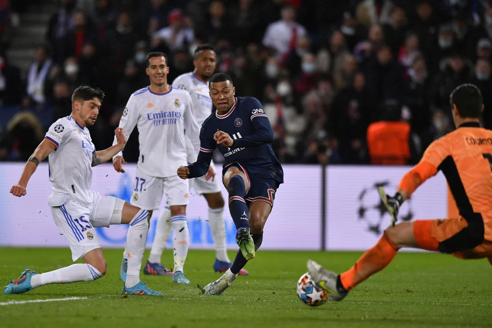
M 134 214 L 136 213 L 136 214 Z M 133 217 L 132 217 L 132 214 Z M 128 218 L 131 218 L 129 221 Z M 129 222 L 128 222 L 129 221 Z M 122 210 L 122 223 L 129 223 L 126 250 L 128 255 L 128 270 L 125 285 L 121 291 L 124 295 L 162 295 L 147 287 L 140 281 L 140 267 L 144 258 L 145 243 L 149 230 L 149 212 L 125 203 Z

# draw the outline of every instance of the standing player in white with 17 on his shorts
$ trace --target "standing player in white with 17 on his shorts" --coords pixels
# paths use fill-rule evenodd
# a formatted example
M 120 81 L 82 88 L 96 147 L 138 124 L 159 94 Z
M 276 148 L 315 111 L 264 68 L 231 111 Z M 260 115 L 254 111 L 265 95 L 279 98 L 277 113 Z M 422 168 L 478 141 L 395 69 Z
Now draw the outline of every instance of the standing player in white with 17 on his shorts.
M 185 134 L 194 145 L 198 156 L 199 129 L 193 113 L 190 94 L 185 90 L 173 88 L 167 83 L 169 67 L 166 56 L 161 52 L 147 55 L 147 75 L 150 86 L 134 92 L 128 99 L 119 127 L 125 129 L 128 138 L 135 125 L 139 136 L 139 157 L 132 198 L 130 202 L 152 212 L 159 210 L 162 195 L 166 194 L 171 210 L 171 223 L 174 235 L 174 272 L 173 282 L 190 283 L 183 273 L 188 253 L 189 233 L 186 218 L 188 204 L 188 182 L 183 183 L 176 170 L 187 165 Z M 117 143 L 115 139 L 113 145 Z M 113 158 L 113 167 L 117 172 L 125 172 L 122 153 Z M 120 276 L 125 280 L 128 250 L 125 250 L 121 263 Z M 169 274 L 169 270 L 160 263 L 147 262 L 145 273 Z

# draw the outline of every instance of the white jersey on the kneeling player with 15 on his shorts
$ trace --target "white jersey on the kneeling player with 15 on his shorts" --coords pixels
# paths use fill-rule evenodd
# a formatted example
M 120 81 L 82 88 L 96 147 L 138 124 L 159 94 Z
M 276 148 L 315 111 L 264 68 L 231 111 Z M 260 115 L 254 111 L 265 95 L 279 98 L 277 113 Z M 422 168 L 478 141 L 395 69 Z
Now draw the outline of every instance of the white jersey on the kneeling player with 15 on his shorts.
M 95 152 L 89 130 L 67 116 L 51 125 L 45 139 L 56 146 L 48 157 L 53 184 L 49 206 L 61 206 L 72 198 L 81 206 L 89 207 L 93 202 L 92 154 Z

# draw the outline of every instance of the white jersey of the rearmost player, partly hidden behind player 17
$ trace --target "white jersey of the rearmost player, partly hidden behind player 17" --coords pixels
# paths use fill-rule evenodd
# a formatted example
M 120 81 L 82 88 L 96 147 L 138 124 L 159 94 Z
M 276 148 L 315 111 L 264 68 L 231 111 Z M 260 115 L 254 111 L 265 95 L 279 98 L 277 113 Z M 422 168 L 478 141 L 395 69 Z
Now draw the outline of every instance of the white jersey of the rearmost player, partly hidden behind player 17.
M 199 126 L 212 114 L 212 99 L 209 94 L 209 84 L 198 79 L 193 72 L 181 74 L 173 81 L 173 87 L 186 90 L 190 93 L 193 103 L 193 115 Z M 193 152 L 194 146 L 187 140 L 188 163 L 196 161 L 198 154 Z

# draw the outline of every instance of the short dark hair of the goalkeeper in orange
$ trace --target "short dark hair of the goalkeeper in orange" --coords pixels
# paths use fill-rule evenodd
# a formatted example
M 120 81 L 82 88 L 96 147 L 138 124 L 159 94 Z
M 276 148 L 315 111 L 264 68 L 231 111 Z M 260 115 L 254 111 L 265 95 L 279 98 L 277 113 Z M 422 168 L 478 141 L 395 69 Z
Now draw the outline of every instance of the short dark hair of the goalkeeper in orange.
M 482 115 L 483 97 L 477 86 L 465 83 L 456 87 L 449 96 L 451 106 L 456 105 L 461 117 L 479 118 Z

